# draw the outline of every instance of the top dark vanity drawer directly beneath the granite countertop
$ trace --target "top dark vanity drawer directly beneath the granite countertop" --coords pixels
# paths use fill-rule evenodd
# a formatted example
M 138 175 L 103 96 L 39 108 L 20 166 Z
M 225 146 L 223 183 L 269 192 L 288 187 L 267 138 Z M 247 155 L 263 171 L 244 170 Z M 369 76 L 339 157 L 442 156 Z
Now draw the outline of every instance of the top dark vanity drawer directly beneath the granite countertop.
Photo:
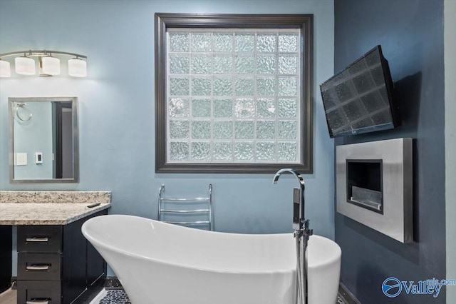
M 18 252 L 60 253 L 62 251 L 61 226 L 18 226 Z

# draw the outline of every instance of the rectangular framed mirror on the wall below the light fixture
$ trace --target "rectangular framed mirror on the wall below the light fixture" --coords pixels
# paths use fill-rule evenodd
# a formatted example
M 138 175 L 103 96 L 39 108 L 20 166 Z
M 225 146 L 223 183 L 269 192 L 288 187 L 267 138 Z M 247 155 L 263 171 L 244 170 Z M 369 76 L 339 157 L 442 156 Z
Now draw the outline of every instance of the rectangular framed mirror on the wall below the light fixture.
M 11 183 L 78 183 L 78 98 L 10 97 Z

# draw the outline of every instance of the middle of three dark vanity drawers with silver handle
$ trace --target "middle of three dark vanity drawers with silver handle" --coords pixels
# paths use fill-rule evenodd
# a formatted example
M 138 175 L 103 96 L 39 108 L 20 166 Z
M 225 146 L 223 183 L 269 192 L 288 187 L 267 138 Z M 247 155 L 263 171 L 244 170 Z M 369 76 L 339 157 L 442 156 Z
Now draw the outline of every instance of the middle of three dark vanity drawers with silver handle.
M 60 253 L 18 253 L 18 280 L 60 280 Z

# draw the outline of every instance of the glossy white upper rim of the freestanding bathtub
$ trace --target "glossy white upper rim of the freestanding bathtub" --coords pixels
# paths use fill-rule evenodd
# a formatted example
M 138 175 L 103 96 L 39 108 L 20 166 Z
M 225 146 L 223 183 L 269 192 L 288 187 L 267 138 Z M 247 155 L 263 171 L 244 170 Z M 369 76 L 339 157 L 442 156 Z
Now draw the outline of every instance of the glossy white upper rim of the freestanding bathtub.
M 94 246 L 96 244 L 96 246 L 99 246 L 100 248 L 103 248 L 105 250 L 114 251 L 114 252 L 120 253 L 122 255 L 128 255 L 128 256 L 133 257 L 133 258 L 138 258 L 140 260 L 147 260 L 147 261 L 150 261 L 150 262 L 153 262 L 153 263 L 160 263 L 160 264 L 168 265 L 168 266 L 172 266 L 172 267 L 180 267 L 180 268 L 187 268 L 187 269 L 191 269 L 191 270 L 207 271 L 207 272 L 214 272 L 214 273 L 264 275 L 264 274 L 271 274 L 271 273 L 290 273 L 290 272 L 293 273 L 293 272 L 296 272 L 296 265 L 294 265 L 292 268 L 280 268 L 280 269 L 276 269 L 276 270 L 229 270 L 227 268 L 225 268 L 225 269 L 205 268 L 205 267 L 201 267 L 201 266 L 187 265 L 187 264 L 182 264 L 182 263 L 174 263 L 174 262 L 169 262 L 167 260 L 151 258 L 151 257 L 145 256 L 145 255 L 140 255 L 138 253 L 134 253 L 133 251 L 128 251 L 128 250 L 123 250 L 123 249 L 120 249 L 120 248 L 116 248 L 113 245 L 110 245 L 108 242 L 105 242 L 105 241 L 102 241 L 102 240 L 97 240 L 97 239 L 93 238 L 93 236 L 90 235 L 90 233 L 88 233 L 88 231 L 87 231 L 87 229 L 88 229 L 87 227 L 90 226 L 90 223 L 92 221 L 97 221 L 97 218 L 98 218 L 98 220 L 100 220 L 100 218 L 105 218 L 107 216 L 109 216 L 111 218 L 112 217 L 117 217 L 117 218 L 124 218 L 124 217 L 135 218 L 135 219 L 139 219 L 140 221 L 148 221 L 150 223 L 159 223 L 160 225 L 164 225 L 164 226 L 173 225 L 173 224 L 170 224 L 170 223 L 164 223 L 164 222 L 161 222 L 161 221 L 153 220 L 151 218 L 144 218 L 142 216 L 131 216 L 131 215 L 127 215 L 127 214 L 108 214 L 108 215 L 103 215 L 103 216 L 96 216 L 95 218 L 90 218 L 88 221 L 83 223 L 83 226 L 81 227 L 81 231 L 82 231 L 84 237 L 87 238 L 90 241 L 90 243 L 92 243 Z M 178 226 L 178 227 L 182 228 L 182 229 L 192 229 L 192 228 L 185 227 L 185 226 Z M 291 233 L 264 233 L 264 234 L 227 233 L 227 232 L 207 231 L 207 230 L 201 230 L 201 232 L 202 233 L 217 233 L 217 234 L 222 234 L 222 235 L 242 235 L 242 237 L 244 237 L 244 236 L 245 237 L 249 237 L 249 235 L 254 235 L 256 238 L 267 238 L 267 237 L 270 237 L 271 235 L 293 235 L 294 234 L 292 232 Z M 341 255 L 341 248 L 336 242 L 334 242 L 333 240 L 331 240 L 329 238 L 321 236 L 321 235 L 311 235 L 311 238 L 321 238 L 321 239 L 324 239 L 324 240 L 327 240 L 327 241 L 331 241 L 333 244 L 337 245 L 336 248 L 338 248 L 338 254 L 336 254 L 333 257 L 331 257 L 331 259 L 329 259 L 329 261 L 328 260 L 323 260 L 321 263 L 317 263 L 316 265 L 311 265 L 311 266 L 308 265 L 309 268 L 318 268 L 318 267 L 321 267 L 321 265 L 331 264 L 331 263 L 334 263 L 336 260 L 338 260 L 338 258 Z

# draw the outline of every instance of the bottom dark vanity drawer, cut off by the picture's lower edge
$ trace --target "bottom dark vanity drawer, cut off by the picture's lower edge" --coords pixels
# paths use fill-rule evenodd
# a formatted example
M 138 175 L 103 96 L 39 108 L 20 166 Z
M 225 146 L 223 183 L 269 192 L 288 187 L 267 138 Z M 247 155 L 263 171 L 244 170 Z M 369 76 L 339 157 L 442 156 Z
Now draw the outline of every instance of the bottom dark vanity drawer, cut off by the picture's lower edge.
M 18 280 L 17 303 L 61 304 L 60 281 Z

